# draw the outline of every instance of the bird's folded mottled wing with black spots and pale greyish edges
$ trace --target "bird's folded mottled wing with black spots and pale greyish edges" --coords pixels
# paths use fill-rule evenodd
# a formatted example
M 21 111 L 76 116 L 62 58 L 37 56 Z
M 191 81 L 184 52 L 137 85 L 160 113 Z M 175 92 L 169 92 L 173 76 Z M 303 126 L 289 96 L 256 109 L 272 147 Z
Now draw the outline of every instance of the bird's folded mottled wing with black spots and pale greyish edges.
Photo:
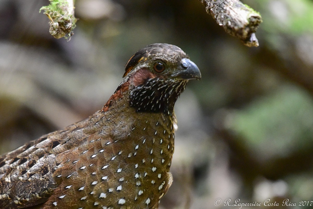
M 88 138 L 80 128 L 83 124 L 80 121 L 0 156 L 0 208 L 28 208 L 47 201 L 57 187 L 53 176 L 59 166 L 57 156 Z

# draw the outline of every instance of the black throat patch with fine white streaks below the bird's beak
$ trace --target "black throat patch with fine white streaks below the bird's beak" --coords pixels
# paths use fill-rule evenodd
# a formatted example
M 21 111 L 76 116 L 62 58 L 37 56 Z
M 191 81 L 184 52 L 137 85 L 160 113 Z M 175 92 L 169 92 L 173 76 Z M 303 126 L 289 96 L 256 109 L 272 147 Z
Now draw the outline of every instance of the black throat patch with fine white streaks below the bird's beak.
M 186 80 L 149 78 L 131 89 L 130 106 L 137 112 L 172 112 Z

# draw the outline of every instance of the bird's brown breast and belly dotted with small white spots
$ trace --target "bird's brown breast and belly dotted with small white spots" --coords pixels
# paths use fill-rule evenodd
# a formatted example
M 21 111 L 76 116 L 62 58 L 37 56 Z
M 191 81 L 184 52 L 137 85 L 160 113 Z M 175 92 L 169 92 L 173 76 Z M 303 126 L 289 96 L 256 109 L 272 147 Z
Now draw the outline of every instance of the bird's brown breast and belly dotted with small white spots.
M 58 196 L 48 204 L 156 208 L 172 183 L 171 115 L 141 115 L 128 128 L 121 139 L 91 134 L 84 145 L 59 155 L 61 167 L 54 172 Z

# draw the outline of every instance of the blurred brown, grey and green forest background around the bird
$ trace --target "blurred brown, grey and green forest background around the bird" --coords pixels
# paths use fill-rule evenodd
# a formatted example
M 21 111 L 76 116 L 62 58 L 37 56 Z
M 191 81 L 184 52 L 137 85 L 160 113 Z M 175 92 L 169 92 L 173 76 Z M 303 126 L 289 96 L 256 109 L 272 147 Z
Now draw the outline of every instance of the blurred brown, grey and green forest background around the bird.
M 258 48 L 198 0 L 76 0 L 69 42 L 49 34 L 48 0 L 0 0 L 0 154 L 99 110 L 137 50 L 171 43 L 202 79 L 175 106 L 174 183 L 160 209 L 312 208 L 300 201 L 313 201 L 313 1 L 243 3 L 262 15 Z

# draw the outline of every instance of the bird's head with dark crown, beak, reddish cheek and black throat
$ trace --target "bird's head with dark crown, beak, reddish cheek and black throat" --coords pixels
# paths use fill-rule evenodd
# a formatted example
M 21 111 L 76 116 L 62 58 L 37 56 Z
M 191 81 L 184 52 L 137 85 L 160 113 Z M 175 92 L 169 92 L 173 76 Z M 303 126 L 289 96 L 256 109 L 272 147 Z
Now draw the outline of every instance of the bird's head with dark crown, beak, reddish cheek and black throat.
M 136 111 L 168 112 L 173 110 L 187 81 L 200 79 L 201 74 L 181 48 L 155 43 L 129 59 L 123 77 L 122 84 L 129 83 L 130 106 Z

